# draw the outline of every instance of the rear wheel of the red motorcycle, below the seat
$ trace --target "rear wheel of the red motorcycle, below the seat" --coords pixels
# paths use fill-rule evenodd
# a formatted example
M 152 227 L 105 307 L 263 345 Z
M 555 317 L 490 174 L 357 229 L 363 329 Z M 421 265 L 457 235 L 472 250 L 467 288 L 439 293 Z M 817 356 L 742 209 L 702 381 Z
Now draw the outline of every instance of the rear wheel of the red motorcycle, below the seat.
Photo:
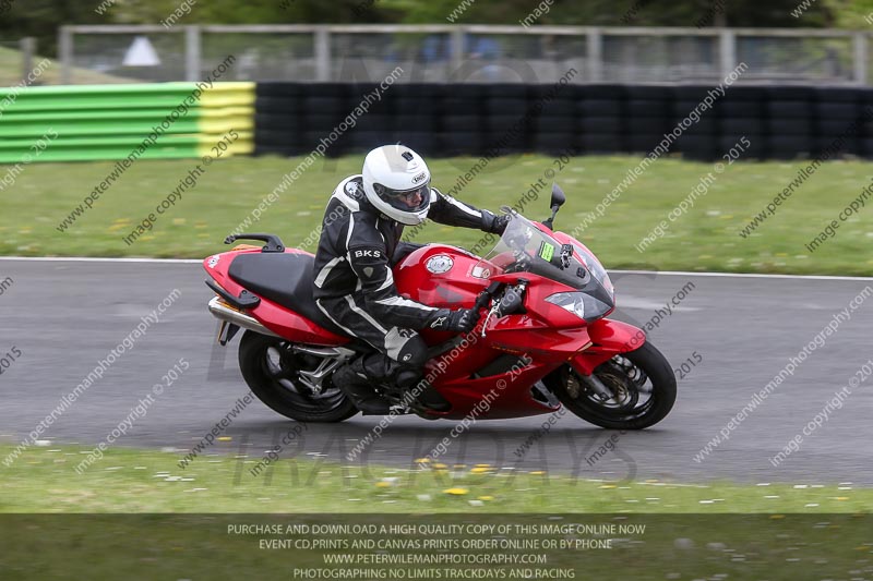
M 300 372 L 314 371 L 324 358 L 296 353 L 278 337 L 246 331 L 239 343 L 239 368 L 258 399 L 298 422 L 342 422 L 358 413 L 330 378 L 321 392 L 300 380 Z

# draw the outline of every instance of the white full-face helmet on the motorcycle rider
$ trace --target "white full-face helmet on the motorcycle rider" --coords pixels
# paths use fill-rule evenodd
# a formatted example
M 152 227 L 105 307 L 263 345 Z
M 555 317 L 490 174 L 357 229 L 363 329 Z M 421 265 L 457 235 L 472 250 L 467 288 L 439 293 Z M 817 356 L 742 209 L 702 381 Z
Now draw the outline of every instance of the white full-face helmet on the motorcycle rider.
M 430 170 L 404 145 L 376 147 L 363 159 L 363 191 L 379 211 L 407 226 L 421 223 L 430 208 Z

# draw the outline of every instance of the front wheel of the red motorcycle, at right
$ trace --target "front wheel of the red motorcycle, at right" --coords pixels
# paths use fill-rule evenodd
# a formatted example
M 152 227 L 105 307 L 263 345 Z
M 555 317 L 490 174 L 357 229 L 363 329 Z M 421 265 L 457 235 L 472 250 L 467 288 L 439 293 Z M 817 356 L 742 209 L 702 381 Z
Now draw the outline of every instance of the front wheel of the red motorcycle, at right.
M 643 429 L 663 420 L 675 402 L 675 376 L 667 359 L 649 343 L 613 356 L 593 377 L 565 365 L 545 378 L 570 411 L 610 429 Z M 595 389 L 606 387 L 601 395 Z

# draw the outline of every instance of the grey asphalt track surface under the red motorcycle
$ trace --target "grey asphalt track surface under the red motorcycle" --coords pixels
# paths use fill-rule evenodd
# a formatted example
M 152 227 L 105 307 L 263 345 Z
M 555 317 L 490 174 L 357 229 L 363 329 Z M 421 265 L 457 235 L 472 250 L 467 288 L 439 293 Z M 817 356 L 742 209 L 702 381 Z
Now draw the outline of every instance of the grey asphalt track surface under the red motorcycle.
M 172 291 L 181 295 L 40 437 L 56 444 L 96 446 L 180 358 L 190 368 L 136 420 L 117 445 L 176 448 L 195 445 L 248 392 L 229 349 L 214 346 L 216 323 L 205 308 L 211 291 L 191 262 L 117 262 L 0 258 L 0 353 L 21 356 L 0 375 L 0 441 L 17 444 L 58 406 Z M 567 413 L 526 453 L 519 446 L 547 415 L 476 422 L 441 458 L 447 464 L 490 463 L 548 470 L 579 479 L 658 479 L 682 483 L 846 483 L 873 485 L 871 412 L 873 378 L 851 389 L 841 409 L 803 436 L 780 465 L 769 459 L 802 434 L 834 392 L 871 356 L 873 296 L 826 338 L 701 462 L 694 456 L 752 396 L 813 340 L 834 315 L 873 279 L 701 276 L 615 273 L 617 318 L 645 324 L 677 292 L 694 288 L 649 339 L 678 366 L 693 352 L 702 362 L 679 382 L 672 413 L 657 426 L 626 434 L 593 426 Z M 821 416 L 820 416 L 821 420 Z M 348 463 L 345 456 L 380 417 L 357 415 L 342 424 L 309 425 L 283 457 Z M 355 461 L 410 467 L 454 422 L 396 419 Z M 295 426 L 255 400 L 205 453 L 263 456 Z M 614 450 L 588 462 L 610 437 Z M 26 453 L 26 452 L 25 452 Z M 26 456 L 19 461 L 26 461 Z M 198 459 L 195 462 L 205 461 Z M 105 461 L 104 461 L 105 462 Z M 0 471 L 3 468 L 0 467 Z M 188 470 L 191 470 L 189 467 Z

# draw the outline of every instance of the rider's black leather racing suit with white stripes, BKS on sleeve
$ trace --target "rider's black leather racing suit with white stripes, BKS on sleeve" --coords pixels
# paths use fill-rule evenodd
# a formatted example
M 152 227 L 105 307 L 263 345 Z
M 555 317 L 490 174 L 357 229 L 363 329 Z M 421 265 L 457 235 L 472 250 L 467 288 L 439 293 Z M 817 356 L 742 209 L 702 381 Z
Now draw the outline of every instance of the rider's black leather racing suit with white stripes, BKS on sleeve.
M 431 187 L 428 217 L 449 226 L 495 232 L 500 219 Z M 315 253 L 315 303 L 351 337 L 367 341 L 384 356 L 369 358 L 367 375 L 408 388 L 427 362 L 427 344 L 415 332 L 451 313 L 397 293 L 391 270 L 405 243 L 404 226 L 368 201 L 361 175 L 336 186 L 324 213 Z M 404 385 L 407 384 L 407 385 Z

